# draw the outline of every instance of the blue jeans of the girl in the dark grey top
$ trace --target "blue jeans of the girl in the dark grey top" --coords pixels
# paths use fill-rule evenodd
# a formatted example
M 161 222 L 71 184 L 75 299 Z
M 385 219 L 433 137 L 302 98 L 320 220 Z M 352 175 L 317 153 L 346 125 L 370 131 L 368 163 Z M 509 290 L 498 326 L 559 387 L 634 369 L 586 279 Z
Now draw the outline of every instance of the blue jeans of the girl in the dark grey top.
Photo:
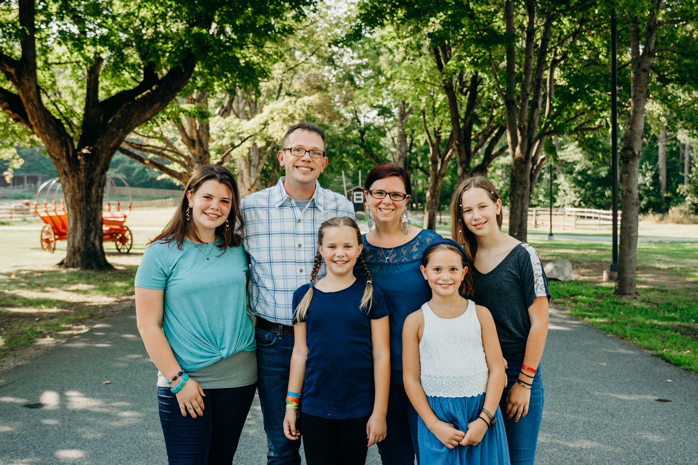
M 528 404 L 528 414 L 514 422 L 514 418 L 507 420 L 507 395 L 509 390 L 519 378 L 522 362 L 509 362 L 507 368 L 507 387 L 502 394 L 499 406 L 504 416 L 504 427 L 507 431 L 507 442 L 509 443 L 509 455 L 512 465 L 533 465 L 535 462 L 535 449 L 538 445 L 538 432 L 540 432 L 540 421 L 543 417 L 543 381 L 541 379 L 541 365 L 538 365 L 535 377 L 531 383 L 530 403 Z M 526 376 L 521 376 L 525 379 Z

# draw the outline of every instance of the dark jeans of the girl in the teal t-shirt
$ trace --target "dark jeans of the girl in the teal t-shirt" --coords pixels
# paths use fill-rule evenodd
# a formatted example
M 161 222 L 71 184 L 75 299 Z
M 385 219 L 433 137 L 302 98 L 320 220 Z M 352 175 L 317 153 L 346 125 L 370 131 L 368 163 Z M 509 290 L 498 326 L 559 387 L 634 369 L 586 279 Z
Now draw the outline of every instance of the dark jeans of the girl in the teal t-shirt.
M 160 423 L 170 465 L 232 464 L 237 442 L 255 397 L 254 384 L 205 389 L 204 415 L 181 415 L 177 397 L 158 388 Z

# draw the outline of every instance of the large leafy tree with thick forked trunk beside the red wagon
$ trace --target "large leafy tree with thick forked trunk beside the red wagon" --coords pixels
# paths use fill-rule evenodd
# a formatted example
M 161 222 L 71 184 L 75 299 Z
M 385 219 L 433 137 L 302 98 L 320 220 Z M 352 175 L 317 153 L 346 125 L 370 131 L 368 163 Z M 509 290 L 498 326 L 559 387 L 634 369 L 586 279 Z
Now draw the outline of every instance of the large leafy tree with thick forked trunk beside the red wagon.
M 305 0 L 0 3 L 0 108 L 40 139 L 68 207 L 65 267 L 110 268 L 102 197 L 126 136 L 195 72 L 228 82 L 263 70 L 255 49 Z M 283 24 L 283 23 L 282 23 Z

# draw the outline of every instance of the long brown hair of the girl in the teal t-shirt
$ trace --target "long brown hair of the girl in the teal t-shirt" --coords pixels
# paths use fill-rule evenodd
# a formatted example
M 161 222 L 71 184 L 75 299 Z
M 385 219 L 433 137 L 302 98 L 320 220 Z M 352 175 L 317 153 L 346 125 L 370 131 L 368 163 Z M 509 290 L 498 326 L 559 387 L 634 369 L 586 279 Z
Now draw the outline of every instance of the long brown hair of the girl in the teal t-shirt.
M 240 211 L 240 195 L 237 189 L 237 183 L 235 182 L 235 176 L 232 176 L 228 168 L 219 165 L 206 165 L 194 171 L 194 174 L 189 178 L 189 182 L 186 183 L 186 190 L 184 191 L 184 195 L 181 196 L 179 208 L 174 212 L 172 219 L 168 222 L 168 225 L 165 226 L 165 229 L 163 229 L 156 238 L 150 241 L 149 244 L 158 241 L 168 244 L 174 241 L 177 243 L 177 248 L 181 250 L 186 236 L 192 238 L 194 241 L 201 242 L 194 222 L 186 219 L 186 213 L 189 210 L 189 200 L 186 198 L 186 192 L 191 192 L 193 195 L 203 183 L 211 179 L 227 185 L 228 188 L 230 188 L 230 192 L 232 192 L 230 213 L 228 213 L 227 218 L 229 224 L 228 227 L 226 227 L 225 223 L 223 223 L 216 228 L 216 236 L 223 238 L 223 243 L 217 244 L 216 247 L 223 250 L 221 253 L 222 255 L 228 247 L 242 245 L 244 224 Z

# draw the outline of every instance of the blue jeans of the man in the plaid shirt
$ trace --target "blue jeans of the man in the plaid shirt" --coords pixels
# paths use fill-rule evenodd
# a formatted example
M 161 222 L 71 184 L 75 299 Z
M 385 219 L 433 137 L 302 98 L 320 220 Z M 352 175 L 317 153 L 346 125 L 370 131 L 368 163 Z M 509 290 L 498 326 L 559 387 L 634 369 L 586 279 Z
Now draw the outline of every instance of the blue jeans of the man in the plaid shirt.
M 257 341 L 257 389 L 267 433 L 268 465 L 300 465 L 301 441 L 290 441 L 283 434 L 286 392 L 291 369 L 293 337 L 255 328 Z M 297 425 L 300 429 L 300 425 Z M 302 429 L 301 429 L 302 431 Z

